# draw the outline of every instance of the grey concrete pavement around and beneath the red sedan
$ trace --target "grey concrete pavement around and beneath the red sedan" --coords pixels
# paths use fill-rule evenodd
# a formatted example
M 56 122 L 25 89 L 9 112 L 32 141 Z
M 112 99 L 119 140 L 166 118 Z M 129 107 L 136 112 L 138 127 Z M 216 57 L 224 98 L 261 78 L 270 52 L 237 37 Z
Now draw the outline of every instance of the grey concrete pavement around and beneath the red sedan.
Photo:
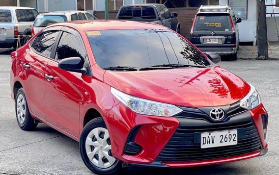
M 85 167 L 78 142 L 39 124 L 23 131 L 16 122 L 10 98 L 11 50 L 0 49 L 0 175 L 92 175 Z M 123 175 L 278 175 L 279 172 L 279 61 L 237 60 L 219 63 L 253 84 L 269 112 L 269 152 L 250 160 L 183 169 L 131 167 Z

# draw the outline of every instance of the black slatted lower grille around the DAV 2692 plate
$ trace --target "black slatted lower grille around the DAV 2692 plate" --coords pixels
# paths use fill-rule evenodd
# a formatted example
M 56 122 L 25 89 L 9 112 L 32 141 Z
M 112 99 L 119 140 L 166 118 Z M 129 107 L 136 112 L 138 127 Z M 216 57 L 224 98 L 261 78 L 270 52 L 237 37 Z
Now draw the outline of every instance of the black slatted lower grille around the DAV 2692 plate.
M 161 162 L 197 161 L 237 156 L 261 150 L 257 129 L 251 116 L 248 115 L 249 112 L 246 113 L 247 117 L 242 114 L 241 121 L 235 122 L 235 120 L 232 120 L 231 123 L 227 124 L 179 126 L 158 158 Z M 234 119 L 237 117 L 239 116 L 235 116 Z M 237 145 L 207 149 L 200 148 L 201 132 L 228 129 L 238 130 Z

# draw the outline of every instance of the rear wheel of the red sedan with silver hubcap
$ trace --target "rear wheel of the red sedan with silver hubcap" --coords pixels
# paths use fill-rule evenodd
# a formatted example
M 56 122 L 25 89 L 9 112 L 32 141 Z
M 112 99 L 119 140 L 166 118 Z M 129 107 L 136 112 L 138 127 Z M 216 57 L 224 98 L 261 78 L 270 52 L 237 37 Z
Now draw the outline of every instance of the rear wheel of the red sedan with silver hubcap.
M 15 104 L 16 118 L 19 127 L 22 130 L 27 130 L 27 131 L 34 130 L 38 124 L 35 123 L 34 119 L 32 118 L 29 112 L 28 103 L 23 88 L 20 88 L 17 91 L 17 96 L 15 101 L 16 101 Z

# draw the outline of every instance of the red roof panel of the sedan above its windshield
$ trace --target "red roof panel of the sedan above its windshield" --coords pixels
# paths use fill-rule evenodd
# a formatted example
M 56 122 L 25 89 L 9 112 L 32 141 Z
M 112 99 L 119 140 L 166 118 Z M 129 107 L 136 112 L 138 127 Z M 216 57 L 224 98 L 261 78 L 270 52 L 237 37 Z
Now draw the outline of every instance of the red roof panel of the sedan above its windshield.
M 168 29 L 163 25 L 147 22 L 135 22 L 124 20 L 93 20 L 93 21 L 70 21 L 66 23 L 56 23 L 48 27 L 63 25 L 73 28 L 81 28 L 84 31 L 93 30 L 117 30 L 117 29 Z

